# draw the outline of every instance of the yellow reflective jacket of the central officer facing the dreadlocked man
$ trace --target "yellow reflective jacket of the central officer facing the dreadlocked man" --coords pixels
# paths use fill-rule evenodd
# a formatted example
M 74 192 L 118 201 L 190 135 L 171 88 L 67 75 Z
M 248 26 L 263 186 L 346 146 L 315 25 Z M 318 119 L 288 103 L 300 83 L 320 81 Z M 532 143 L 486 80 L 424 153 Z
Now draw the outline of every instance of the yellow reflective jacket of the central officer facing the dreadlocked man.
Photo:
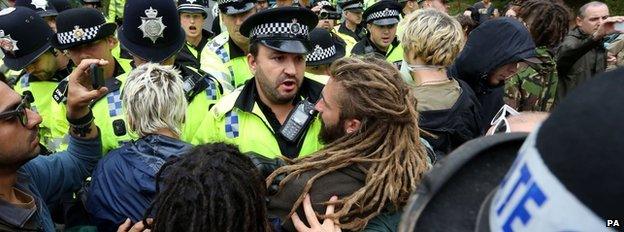
M 206 114 L 191 141 L 193 144 L 226 142 L 237 145 L 242 152 L 255 152 L 267 158 L 286 156 L 276 139 L 281 135 L 273 130 L 255 100 L 255 82 L 251 80 L 223 97 Z M 304 78 L 300 93 L 309 98 L 310 102 L 316 102 L 322 88 L 322 84 Z M 320 130 L 321 121 L 315 117 L 299 141 L 297 154 L 291 154 L 291 158 L 306 156 L 321 149 L 322 144 L 318 140 Z

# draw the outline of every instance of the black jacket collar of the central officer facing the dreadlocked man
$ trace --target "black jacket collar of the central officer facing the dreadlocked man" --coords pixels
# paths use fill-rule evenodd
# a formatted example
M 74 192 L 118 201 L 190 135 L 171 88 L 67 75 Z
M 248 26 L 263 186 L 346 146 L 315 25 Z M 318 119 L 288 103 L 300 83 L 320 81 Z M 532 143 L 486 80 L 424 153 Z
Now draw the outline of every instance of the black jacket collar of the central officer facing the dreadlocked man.
M 251 113 L 256 101 L 260 103 L 260 97 L 258 95 L 258 90 L 256 89 L 256 77 L 252 77 L 243 86 L 240 95 L 236 98 L 236 103 L 234 103 L 234 107 L 241 109 L 245 112 Z M 308 101 L 314 103 L 318 101 L 321 91 L 323 91 L 323 84 L 315 82 L 313 80 L 308 79 L 307 77 L 303 78 L 303 83 L 301 84 L 301 88 L 297 93 L 297 100 L 293 101 L 293 104 L 296 104 L 302 98 L 307 98 Z M 257 100 L 256 100 L 257 99 Z

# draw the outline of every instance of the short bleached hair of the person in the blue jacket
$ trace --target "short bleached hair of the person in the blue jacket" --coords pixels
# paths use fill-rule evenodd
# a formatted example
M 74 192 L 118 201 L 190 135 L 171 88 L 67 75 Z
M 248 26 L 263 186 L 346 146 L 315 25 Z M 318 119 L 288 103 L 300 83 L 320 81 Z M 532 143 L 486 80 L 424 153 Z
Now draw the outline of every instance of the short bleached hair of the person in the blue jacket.
M 180 72 L 146 63 L 128 75 L 122 102 L 130 129 L 139 137 L 169 129 L 180 136 L 188 103 Z

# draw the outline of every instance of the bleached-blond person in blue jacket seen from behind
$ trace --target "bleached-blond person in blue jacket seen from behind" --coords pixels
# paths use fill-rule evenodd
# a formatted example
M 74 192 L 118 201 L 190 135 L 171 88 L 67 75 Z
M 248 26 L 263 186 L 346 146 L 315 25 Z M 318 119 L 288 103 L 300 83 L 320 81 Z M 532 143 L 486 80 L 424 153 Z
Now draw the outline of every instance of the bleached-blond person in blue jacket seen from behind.
M 93 173 L 87 209 L 98 230 L 137 222 L 156 194 L 156 173 L 192 146 L 179 140 L 187 101 L 173 66 L 143 64 L 128 76 L 122 102 L 138 140 L 112 150 Z

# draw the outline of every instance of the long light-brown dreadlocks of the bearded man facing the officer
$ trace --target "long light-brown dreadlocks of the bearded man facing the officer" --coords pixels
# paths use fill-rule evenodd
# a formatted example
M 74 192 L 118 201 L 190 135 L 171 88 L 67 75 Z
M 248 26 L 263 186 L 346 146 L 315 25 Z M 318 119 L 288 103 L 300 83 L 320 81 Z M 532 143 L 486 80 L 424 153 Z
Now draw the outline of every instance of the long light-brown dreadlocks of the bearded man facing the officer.
M 340 117 L 359 119 L 360 129 L 277 169 L 266 183 L 286 174 L 280 182 L 282 189 L 301 173 L 320 171 L 306 182 L 292 215 L 316 179 L 359 165 L 367 170 L 364 187 L 326 204 L 339 209 L 327 217 L 339 219 L 344 229 L 360 230 L 387 205 L 400 208 L 406 204 L 428 169 L 427 154 L 419 140 L 416 99 L 394 66 L 373 57 L 342 58 L 330 69 L 333 80 L 342 86 L 337 97 Z

